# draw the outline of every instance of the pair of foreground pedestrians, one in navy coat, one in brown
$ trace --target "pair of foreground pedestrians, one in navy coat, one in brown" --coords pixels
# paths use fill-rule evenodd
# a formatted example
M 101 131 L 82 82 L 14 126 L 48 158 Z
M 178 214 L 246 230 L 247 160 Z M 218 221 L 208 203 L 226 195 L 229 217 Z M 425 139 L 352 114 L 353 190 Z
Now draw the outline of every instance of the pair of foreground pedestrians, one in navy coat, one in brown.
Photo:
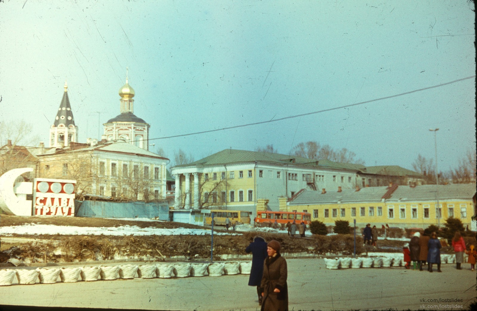
M 245 252 L 252 253 L 249 285 L 257 287 L 261 311 L 288 311 L 287 261 L 276 240 L 255 237 Z

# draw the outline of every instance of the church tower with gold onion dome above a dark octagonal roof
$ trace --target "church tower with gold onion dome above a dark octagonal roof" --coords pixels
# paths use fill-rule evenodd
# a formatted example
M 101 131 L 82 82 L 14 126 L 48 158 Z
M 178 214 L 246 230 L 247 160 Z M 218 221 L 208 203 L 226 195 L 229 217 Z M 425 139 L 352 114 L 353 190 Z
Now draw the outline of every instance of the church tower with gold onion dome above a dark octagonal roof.
M 134 115 L 135 91 L 126 83 L 119 89 L 120 114 L 104 123 L 104 138 L 108 141 L 122 139 L 136 147 L 149 150 L 149 127 L 143 119 Z

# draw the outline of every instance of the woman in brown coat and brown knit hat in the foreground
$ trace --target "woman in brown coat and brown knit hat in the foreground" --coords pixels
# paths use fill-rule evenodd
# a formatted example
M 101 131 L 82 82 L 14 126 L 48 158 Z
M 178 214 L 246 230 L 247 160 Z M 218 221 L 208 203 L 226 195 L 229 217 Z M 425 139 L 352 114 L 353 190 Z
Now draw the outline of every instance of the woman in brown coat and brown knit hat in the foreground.
M 263 263 L 261 311 L 288 311 L 287 261 L 280 255 L 280 243 L 271 240 Z

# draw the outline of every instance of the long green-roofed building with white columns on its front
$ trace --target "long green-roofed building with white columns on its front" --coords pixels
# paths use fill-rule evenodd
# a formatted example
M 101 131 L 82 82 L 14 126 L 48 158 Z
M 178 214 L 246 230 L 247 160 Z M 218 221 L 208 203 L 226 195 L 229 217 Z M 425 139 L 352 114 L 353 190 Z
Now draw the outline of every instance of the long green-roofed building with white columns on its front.
M 280 197 L 291 198 L 301 189 L 338 191 L 383 186 L 395 180 L 407 184 L 407 175 L 413 176 L 413 181 L 422 177 L 392 167 L 381 168 L 379 171 L 386 173 L 382 175 L 373 167 L 357 164 L 225 149 L 171 168 L 176 182 L 174 208 L 242 210 L 255 215 L 257 207 L 263 205 L 258 204 L 259 199 L 268 200 L 267 209 L 278 211 Z

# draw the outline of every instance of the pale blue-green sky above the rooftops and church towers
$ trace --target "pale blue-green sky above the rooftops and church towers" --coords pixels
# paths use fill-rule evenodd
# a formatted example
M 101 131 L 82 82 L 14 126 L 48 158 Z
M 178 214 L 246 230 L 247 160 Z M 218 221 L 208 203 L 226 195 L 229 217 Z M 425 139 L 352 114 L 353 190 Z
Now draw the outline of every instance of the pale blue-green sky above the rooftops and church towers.
M 439 128 L 447 170 L 476 147 L 474 4 L 406 2 L 4 0 L 0 121 L 48 145 L 67 80 L 79 141 L 100 138 L 127 67 L 150 150 L 171 159 L 317 141 L 412 169 Z

